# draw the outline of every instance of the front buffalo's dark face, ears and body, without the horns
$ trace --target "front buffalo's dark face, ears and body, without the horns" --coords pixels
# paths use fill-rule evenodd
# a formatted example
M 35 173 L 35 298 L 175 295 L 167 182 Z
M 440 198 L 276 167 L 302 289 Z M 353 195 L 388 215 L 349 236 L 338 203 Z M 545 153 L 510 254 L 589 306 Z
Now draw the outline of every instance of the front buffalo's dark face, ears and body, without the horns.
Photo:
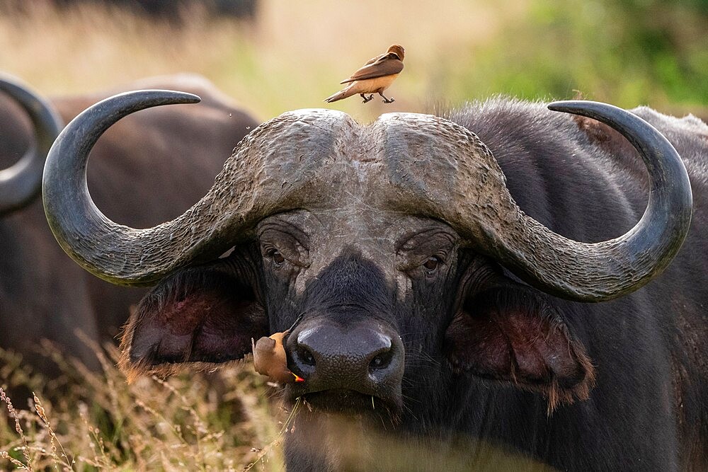
M 227 257 L 162 280 L 131 318 L 123 367 L 167 374 L 239 359 L 251 338 L 302 315 L 286 350 L 305 381 L 283 393 L 312 411 L 300 407 L 287 434 L 289 470 L 395 464 L 377 432 L 413 444 L 422 470 L 452 450 L 464 451 L 460 470 L 498 454 L 563 470 L 704 469 L 708 127 L 634 111 L 678 149 L 696 202 L 673 265 L 634 294 L 549 297 L 445 222 L 340 192 L 328 207 L 266 217 Z M 605 241 L 644 210 L 646 171 L 604 125 L 503 100 L 452 120 L 489 146 L 520 207 L 564 236 Z M 356 431 L 358 443 L 344 439 Z

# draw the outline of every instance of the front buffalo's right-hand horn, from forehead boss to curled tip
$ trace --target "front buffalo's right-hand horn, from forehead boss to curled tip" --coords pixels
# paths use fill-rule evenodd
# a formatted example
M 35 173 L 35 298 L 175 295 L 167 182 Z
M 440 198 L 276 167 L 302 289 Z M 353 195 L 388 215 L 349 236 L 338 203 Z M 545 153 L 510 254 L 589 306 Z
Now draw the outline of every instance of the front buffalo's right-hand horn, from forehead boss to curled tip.
M 621 297 L 661 273 L 683 244 L 692 214 L 685 166 L 660 132 L 626 110 L 590 101 L 549 108 L 604 122 L 639 151 L 649 171 L 649 203 L 626 234 L 581 243 L 539 224 L 514 202 L 491 151 L 467 129 L 434 117 L 384 115 L 375 123 L 398 137 L 387 139 L 396 146 L 387 154 L 399 182 L 385 198 L 406 207 L 415 202 L 418 212 L 447 221 L 477 251 L 544 292 L 576 301 Z

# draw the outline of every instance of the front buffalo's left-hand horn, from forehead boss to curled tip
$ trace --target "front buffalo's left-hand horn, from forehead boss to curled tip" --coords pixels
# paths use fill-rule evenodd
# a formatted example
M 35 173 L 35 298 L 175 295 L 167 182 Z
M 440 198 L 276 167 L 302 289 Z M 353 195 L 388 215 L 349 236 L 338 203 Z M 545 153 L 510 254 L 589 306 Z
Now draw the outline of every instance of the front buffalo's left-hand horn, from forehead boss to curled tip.
M 320 165 L 331 142 L 323 144 L 307 120 L 288 113 L 246 135 L 212 189 L 180 217 L 150 229 L 132 229 L 106 218 L 93 204 L 86 185 L 93 144 L 130 113 L 198 100 L 176 91 L 122 93 L 74 118 L 52 146 L 42 189 L 47 221 L 64 251 L 93 275 L 115 284 L 151 285 L 195 260 L 217 258 L 247 238 L 268 214 L 326 200 L 322 189 L 329 184 L 326 180 L 318 184 L 308 174 L 312 166 Z M 319 127 L 331 129 L 332 139 L 342 134 L 338 127 L 344 113 L 335 117 L 324 110 L 312 113 Z M 299 149 L 305 151 L 298 159 L 293 153 Z

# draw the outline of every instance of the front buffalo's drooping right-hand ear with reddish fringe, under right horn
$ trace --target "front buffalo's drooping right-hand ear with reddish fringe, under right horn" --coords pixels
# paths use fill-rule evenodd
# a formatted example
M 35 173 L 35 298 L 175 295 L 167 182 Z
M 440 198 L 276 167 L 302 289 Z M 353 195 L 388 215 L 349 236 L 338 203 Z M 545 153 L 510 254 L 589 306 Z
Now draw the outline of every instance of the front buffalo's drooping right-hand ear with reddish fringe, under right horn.
M 559 402 L 586 400 L 595 378 L 583 345 L 559 313 L 529 287 L 508 281 L 468 299 L 445 333 L 457 372 L 511 381 Z

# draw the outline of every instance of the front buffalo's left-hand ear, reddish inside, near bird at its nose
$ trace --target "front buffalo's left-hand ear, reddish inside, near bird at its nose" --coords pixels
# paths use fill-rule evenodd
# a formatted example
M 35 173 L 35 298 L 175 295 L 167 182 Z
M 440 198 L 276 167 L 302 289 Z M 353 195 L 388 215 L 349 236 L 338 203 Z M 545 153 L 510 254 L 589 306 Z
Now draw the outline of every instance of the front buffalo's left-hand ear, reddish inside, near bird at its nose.
M 132 311 L 120 343 L 120 369 L 171 375 L 211 369 L 251 352 L 268 335 L 263 307 L 249 284 L 220 262 L 166 277 Z

